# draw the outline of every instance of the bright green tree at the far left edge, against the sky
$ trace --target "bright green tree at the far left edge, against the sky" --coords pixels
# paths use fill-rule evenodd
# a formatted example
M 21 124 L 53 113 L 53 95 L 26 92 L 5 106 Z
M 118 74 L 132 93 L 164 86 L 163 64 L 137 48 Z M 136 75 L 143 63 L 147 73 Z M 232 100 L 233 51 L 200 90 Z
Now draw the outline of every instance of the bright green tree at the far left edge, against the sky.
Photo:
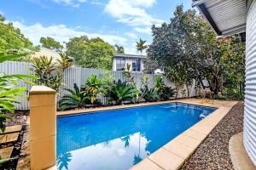
M 5 23 L 4 20 L 5 18 L 0 14 L 0 51 L 32 49 L 32 42 L 20 32 L 20 29 L 15 28 L 12 23 Z

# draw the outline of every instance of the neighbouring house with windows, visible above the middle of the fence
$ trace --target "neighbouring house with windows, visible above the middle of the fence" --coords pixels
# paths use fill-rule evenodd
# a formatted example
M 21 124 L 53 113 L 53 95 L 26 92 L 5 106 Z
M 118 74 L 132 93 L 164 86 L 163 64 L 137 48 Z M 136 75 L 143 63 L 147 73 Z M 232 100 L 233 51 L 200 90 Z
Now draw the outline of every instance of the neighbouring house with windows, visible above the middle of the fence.
M 125 71 L 127 70 L 127 65 L 131 65 L 131 71 L 142 72 L 143 59 L 146 59 L 145 55 L 114 54 L 113 55 L 113 71 Z

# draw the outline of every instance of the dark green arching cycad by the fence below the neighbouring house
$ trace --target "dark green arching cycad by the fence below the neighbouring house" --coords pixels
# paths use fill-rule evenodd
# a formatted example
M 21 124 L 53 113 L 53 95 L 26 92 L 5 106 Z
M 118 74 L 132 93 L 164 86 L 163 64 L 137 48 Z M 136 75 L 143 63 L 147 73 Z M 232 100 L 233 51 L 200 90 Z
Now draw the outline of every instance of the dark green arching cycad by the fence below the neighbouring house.
M 127 82 L 121 82 L 119 80 L 114 84 L 112 93 L 109 97 L 113 99 L 116 104 L 122 104 L 124 101 L 134 102 L 137 94 L 137 88 L 134 88 Z

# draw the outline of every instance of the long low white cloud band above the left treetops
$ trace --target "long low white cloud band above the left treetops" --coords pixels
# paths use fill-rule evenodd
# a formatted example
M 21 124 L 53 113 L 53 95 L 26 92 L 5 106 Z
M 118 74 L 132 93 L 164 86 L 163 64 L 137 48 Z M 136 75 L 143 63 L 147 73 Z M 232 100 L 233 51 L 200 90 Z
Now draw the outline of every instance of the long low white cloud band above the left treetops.
M 40 37 L 53 37 L 58 42 L 67 42 L 72 37 L 79 37 L 86 35 L 89 38 L 101 37 L 104 41 L 110 44 L 125 45 L 127 39 L 125 37 L 118 37 L 108 34 L 88 33 L 84 31 L 76 31 L 68 28 L 65 25 L 42 26 L 40 23 L 26 26 L 19 21 L 13 22 L 14 26 L 20 28 L 20 31 L 28 37 L 35 45 L 39 44 Z

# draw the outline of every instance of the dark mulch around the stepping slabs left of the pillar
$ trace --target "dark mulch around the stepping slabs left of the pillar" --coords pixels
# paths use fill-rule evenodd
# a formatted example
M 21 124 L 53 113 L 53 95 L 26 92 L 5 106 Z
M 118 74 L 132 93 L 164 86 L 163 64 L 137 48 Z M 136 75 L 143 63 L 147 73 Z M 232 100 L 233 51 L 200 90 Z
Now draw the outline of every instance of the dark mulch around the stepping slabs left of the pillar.
M 14 125 L 24 125 L 26 123 L 26 117 L 28 116 L 28 111 L 15 111 L 14 114 L 8 114 L 12 116 L 14 119 L 13 121 L 7 121 L 7 126 L 14 126 Z M 23 133 L 26 131 L 26 126 L 22 126 L 20 131 L 20 135 L 18 137 L 17 142 L 12 142 L 9 144 L 0 144 L 0 148 L 6 148 L 9 146 L 14 146 L 14 150 L 12 152 L 11 157 L 20 157 L 20 149 L 23 141 Z M 16 169 L 18 163 L 18 159 L 7 161 L 3 164 L 0 164 L 0 169 Z

